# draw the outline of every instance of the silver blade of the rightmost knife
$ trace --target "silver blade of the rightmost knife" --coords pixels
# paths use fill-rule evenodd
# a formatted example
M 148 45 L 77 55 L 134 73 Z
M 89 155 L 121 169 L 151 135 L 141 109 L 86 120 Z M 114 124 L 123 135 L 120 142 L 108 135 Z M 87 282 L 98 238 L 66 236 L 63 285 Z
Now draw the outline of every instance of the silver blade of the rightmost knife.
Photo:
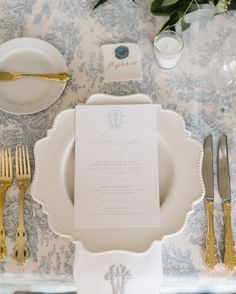
M 218 145 L 218 190 L 224 201 L 231 200 L 227 136 L 220 137 Z

